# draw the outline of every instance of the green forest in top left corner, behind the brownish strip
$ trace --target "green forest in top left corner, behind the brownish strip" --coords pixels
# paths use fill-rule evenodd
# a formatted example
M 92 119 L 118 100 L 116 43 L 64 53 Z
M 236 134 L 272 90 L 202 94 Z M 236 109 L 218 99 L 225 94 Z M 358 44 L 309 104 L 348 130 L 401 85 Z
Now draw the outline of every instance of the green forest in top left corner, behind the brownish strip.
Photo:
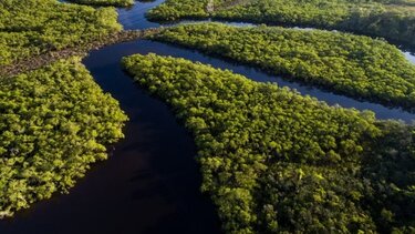
M 0 65 L 92 42 L 122 29 L 115 9 L 55 0 L 2 0 L 0 16 Z

